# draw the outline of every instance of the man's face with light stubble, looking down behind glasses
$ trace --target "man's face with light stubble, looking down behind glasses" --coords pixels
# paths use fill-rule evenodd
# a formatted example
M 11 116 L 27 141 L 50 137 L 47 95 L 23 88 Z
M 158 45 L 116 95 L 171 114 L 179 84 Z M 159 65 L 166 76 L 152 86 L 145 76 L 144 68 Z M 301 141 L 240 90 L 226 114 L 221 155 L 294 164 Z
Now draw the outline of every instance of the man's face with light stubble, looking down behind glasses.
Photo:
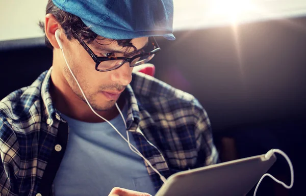
M 95 62 L 77 40 L 72 39 L 66 43 L 63 50 L 67 62 L 93 109 L 105 111 L 112 108 L 122 91 L 131 82 L 133 68 L 129 63 L 125 63 L 112 71 L 96 71 Z M 140 49 L 147 45 L 148 38 L 135 38 L 131 43 Z M 97 40 L 88 46 L 99 57 L 123 57 L 126 50 L 126 47 L 119 46 L 117 41 L 109 39 Z M 132 48 L 129 53 L 133 50 Z M 65 62 L 62 64 L 61 70 L 73 93 L 85 102 L 77 82 Z

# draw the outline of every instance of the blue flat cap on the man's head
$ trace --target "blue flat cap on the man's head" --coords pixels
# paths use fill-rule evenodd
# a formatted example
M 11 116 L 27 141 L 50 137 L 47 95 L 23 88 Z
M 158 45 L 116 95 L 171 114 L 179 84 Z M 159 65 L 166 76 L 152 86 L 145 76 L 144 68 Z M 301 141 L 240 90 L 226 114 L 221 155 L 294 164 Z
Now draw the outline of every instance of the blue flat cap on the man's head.
M 105 38 L 175 39 L 172 0 L 53 0 L 53 3 L 80 17 L 94 33 Z

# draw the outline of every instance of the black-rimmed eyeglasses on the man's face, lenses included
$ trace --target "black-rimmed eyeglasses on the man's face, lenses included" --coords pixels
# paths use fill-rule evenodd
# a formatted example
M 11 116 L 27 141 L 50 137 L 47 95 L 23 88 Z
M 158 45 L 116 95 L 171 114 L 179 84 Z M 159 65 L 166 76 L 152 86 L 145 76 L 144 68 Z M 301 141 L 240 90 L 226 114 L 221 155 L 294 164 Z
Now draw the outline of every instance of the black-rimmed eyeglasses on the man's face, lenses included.
M 126 57 L 98 57 L 89 47 L 88 45 L 76 34 L 74 33 L 79 39 L 80 44 L 84 47 L 84 49 L 88 52 L 92 60 L 96 63 L 95 69 L 97 71 L 112 71 L 114 69 L 118 69 L 125 63 L 129 63 L 130 67 L 135 67 L 138 65 L 142 65 L 144 63 L 147 63 L 150 61 L 157 52 L 161 50 L 158 43 L 156 42 L 156 39 L 154 37 L 149 37 L 149 46 L 144 48 L 150 48 L 151 51 L 140 53 L 137 55 L 134 55 L 132 58 L 126 58 Z

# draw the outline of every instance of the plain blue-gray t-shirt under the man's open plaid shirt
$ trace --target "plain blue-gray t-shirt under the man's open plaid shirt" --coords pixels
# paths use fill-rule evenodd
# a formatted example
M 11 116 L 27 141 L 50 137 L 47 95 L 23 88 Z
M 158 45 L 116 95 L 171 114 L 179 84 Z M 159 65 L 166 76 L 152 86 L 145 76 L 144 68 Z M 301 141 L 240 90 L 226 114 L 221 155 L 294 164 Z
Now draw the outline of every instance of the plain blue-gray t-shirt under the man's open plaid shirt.
M 122 113 L 126 118 L 126 106 Z M 107 122 L 86 123 L 65 115 L 62 118 L 68 122 L 69 137 L 54 181 L 55 196 L 108 195 L 113 187 L 155 195 L 143 159 Z M 121 116 L 110 122 L 126 138 Z M 129 136 L 137 147 L 133 135 Z

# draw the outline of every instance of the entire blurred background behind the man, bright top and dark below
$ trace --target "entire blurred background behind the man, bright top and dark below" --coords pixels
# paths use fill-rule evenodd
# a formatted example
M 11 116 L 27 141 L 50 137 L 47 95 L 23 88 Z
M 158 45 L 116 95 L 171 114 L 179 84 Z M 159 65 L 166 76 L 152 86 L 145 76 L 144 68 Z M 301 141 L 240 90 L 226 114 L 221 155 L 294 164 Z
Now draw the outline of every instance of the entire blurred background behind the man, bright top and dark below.
M 48 69 L 52 51 L 37 24 L 46 0 L 0 2 L 2 99 Z M 155 77 L 205 107 L 222 161 L 271 148 L 289 155 L 293 188 L 265 178 L 258 195 L 303 195 L 306 1 L 174 0 L 173 28 L 175 41 L 157 38 Z M 289 166 L 277 157 L 269 172 L 289 184 Z

